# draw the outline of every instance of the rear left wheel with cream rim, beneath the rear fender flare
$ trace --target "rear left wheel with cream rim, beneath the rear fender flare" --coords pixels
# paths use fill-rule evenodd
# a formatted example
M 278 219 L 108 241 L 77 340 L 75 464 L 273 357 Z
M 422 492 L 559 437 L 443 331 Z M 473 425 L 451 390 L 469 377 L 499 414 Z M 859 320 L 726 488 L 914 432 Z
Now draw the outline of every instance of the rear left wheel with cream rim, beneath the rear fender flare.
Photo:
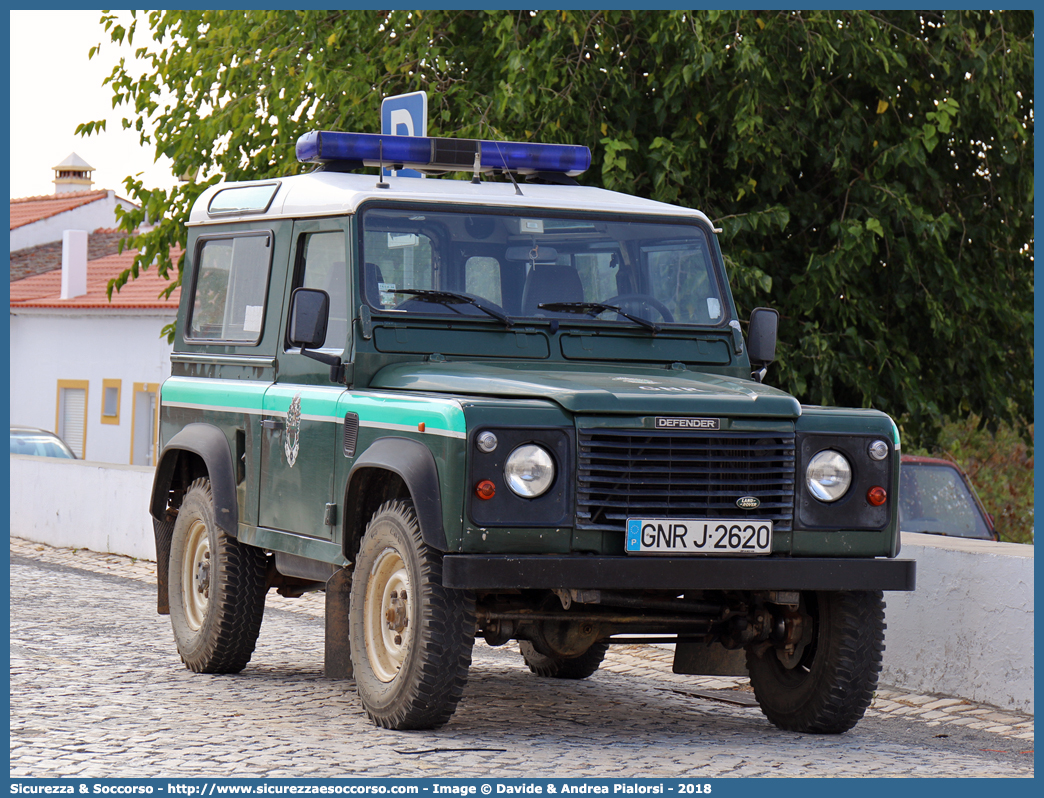
M 210 480 L 196 479 L 185 493 L 170 542 L 170 624 L 186 667 L 237 674 L 251 661 L 261 631 L 266 559 L 260 548 L 226 535 L 214 517 Z

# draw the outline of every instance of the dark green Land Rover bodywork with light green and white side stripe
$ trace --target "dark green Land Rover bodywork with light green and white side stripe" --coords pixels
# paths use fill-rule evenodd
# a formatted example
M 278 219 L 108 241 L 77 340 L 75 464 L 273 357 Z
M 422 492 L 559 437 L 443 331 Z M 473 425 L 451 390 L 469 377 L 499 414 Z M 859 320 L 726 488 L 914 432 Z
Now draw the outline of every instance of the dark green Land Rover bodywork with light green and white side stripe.
M 470 437 L 490 426 L 649 430 L 657 416 L 686 416 L 719 419 L 723 432 L 879 437 L 894 447 L 897 465 L 887 489 L 898 495 L 899 437 L 892 420 L 876 410 L 803 407 L 751 379 L 745 346 L 732 329 L 652 335 L 639 327 L 608 330 L 583 318 L 561 327 L 527 320 L 511 329 L 481 316 L 392 318 L 360 302 L 358 228 L 354 214 L 190 228 L 172 376 L 162 389 L 160 442 L 193 422 L 227 436 L 236 459 L 243 542 L 349 563 L 342 519 L 352 466 L 376 441 L 394 437 L 421 443 L 434 457 L 448 550 L 624 554 L 623 536 L 616 533 L 572 524 L 474 523 L 468 511 L 474 490 L 468 484 Z M 251 231 L 266 231 L 271 241 L 260 341 L 186 338 L 198 243 Z M 351 316 L 345 341 L 324 350 L 345 363 L 340 385 L 331 382 L 328 366 L 286 343 L 298 248 L 303 236 L 330 231 L 345 235 Z M 717 240 L 708 237 L 721 264 Z M 727 318 L 735 319 L 727 284 L 721 300 Z M 301 426 L 291 464 L 286 425 L 294 403 Z M 351 454 L 343 447 L 347 414 L 358 416 Z M 796 477 L 800 494 L 803 475 Z M 773 539 L 776 556 L 895 557 L 898 548 L 894 517 L 878 530 L 805 530 L 796 512 L 792 531 L 777 530 Z

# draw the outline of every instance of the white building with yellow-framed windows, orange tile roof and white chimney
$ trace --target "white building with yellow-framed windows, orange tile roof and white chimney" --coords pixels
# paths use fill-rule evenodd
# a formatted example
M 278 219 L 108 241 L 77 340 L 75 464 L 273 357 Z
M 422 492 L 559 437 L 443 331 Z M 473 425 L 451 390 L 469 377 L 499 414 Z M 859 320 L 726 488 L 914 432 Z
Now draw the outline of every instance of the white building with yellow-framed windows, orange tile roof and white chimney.
M 61 269 L 10 284 L 10 423 L 55 431 L 85 460 L 153 465 L 171 352 L 160 331 L 180 290 L 159 299 L 168 282 L 150 268 L 110 302 L 135 254 L 88 261 L 87 233 L 67 230 Z

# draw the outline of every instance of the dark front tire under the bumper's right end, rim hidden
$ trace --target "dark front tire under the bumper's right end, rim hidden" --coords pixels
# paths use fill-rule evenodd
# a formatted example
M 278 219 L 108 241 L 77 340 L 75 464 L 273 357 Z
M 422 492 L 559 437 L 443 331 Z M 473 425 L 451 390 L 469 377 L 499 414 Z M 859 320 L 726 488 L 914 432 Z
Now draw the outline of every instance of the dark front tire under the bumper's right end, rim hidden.
M 840 734 L 867 711 L 884 651 L 881 591 L 803 594 L 813 620 L 800 662 L 787 668 L 773 648 L 748 650 L 746 668 L 761 711 L 788 731 Z

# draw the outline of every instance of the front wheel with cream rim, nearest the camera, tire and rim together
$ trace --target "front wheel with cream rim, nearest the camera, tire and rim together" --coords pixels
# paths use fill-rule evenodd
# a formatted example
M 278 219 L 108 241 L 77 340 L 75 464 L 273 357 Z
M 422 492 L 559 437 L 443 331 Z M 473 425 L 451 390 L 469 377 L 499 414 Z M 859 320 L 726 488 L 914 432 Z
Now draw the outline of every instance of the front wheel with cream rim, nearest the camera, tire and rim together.
M 402 590 L 405 602 L 393 596 Z M 400 730 L 449 721 L 471 667 L 475 597 L 443 587 L 443 555 L 425 544 L 408 500 L 385 502 L 366 525 L 352 579 L 349 638 L 370 720 Z

